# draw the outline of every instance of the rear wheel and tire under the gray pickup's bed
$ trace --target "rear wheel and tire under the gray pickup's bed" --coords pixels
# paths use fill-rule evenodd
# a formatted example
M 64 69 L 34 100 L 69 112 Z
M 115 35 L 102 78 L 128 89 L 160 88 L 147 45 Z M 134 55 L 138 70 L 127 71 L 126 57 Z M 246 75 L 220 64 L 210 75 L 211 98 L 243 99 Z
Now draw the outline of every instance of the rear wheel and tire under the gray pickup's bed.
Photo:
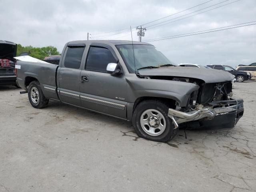
M 49 102 L 49 100 L 44 97 L 40 83 L 38 81 L 32 81 L 29 84 L 28 99 L 30 104 L 37 109 L 46 107 Z

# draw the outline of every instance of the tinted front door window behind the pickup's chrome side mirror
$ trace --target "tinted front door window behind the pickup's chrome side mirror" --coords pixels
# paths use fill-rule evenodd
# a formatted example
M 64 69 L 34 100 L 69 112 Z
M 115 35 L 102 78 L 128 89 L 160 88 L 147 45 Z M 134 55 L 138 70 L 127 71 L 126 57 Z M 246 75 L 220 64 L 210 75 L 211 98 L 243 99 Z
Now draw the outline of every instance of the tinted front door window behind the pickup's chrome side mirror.
M 107 72 L 106 68 L 109 63 L 116 63 L 110 50 L 103 47 L 90 47 L 86 60 L 86 70 Z

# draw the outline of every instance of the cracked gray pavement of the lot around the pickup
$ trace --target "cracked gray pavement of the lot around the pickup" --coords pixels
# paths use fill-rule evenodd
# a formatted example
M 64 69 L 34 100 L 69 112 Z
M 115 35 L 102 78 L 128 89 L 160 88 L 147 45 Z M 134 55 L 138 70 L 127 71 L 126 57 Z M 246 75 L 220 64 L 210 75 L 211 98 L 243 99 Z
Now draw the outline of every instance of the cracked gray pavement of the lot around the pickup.
M 0 86 L 0 192 L 256 191 L 256 81 L 235 84 L 245 112 L 234 129 L 169 143 L 60 102 L 33 108 L 20 90 Z

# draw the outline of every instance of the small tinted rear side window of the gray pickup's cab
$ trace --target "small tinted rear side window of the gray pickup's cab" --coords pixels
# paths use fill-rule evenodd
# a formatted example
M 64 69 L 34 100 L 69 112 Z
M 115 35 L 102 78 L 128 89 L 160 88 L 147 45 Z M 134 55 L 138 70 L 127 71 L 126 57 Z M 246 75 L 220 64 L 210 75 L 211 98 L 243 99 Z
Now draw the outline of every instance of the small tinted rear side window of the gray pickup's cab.
M 67 68 L 79 69 L 84 47 L 68 47 L 68 51 L 65 57 L 64 66 Z

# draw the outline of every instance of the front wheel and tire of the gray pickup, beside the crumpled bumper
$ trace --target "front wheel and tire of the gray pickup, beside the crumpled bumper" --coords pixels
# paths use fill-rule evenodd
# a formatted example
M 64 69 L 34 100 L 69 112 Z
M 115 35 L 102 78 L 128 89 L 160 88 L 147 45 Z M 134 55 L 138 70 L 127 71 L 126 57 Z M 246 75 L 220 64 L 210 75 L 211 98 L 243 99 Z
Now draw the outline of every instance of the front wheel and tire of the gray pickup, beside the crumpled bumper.
M 168 142 L 177 130 L 168 117 L 170 107 L 160 100 L 140 102 L 133 113 L 132 124 L 138 136 L 158 142 Z

